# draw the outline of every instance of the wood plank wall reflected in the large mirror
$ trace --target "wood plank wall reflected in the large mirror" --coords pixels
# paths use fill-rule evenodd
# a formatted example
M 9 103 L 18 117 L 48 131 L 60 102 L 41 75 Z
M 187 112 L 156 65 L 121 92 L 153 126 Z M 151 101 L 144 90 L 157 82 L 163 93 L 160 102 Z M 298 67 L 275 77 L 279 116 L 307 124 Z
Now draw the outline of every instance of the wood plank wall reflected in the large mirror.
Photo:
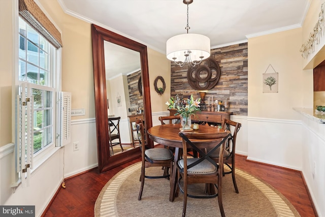
M 131 113 L 136 114 L 139 107 L 143 108 L 143 97 L 138 90 L 138 81 L 141 77 L 141 70 L 127 75 L 128 95 L 131 104 Z

